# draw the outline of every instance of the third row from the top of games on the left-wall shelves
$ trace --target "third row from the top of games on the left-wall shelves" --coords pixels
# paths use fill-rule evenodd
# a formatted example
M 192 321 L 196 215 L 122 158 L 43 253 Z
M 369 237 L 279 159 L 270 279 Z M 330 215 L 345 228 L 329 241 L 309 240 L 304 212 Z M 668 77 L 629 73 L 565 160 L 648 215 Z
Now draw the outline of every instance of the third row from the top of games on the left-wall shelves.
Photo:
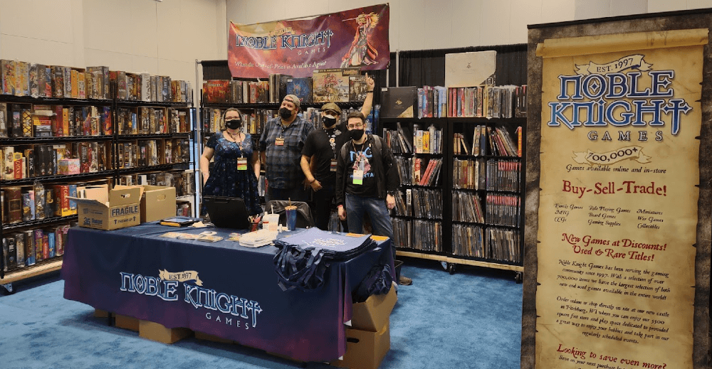
M 190 161 L 187 139 L 119 141 L 116 149 L 119 169 Z M 111 143 L 105 141 L 2 146 L 0 150 L 0 179 L 6 181 L 96 173 L 112 168 Z

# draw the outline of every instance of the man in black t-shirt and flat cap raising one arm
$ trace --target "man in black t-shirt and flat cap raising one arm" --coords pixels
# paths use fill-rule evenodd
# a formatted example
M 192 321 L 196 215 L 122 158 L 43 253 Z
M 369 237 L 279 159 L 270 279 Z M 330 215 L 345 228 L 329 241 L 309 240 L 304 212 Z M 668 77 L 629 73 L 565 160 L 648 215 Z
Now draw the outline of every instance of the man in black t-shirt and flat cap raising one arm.
M 361 107 L 364 116 L 371 112 L 375 82 L 366 75 L 366 84 L 368 93 Z M 314 223 L 320 230 L 327 230 L 336 185 L 336 155 L 348 137 L 346 124 L 337 124 L 341 117 L 338 105 L 333 102 L 323 105 L 321 117 L 324 127 L 310 132 L 304 141 L 300 166 L 312 191 Z M 346 222 L 342 225 L 348 229 Z

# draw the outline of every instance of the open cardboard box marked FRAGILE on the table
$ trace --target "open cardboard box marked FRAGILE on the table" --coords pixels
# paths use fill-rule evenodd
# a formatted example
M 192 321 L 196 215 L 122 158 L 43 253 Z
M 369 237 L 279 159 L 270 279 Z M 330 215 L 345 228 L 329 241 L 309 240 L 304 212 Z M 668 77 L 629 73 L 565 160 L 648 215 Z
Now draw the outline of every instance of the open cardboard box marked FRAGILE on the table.
M 77 203 L 80 227 L 116 230 L 141 223 L 141 189 L 112 189 L 106 185 L 90 188 L 87 198 L 73 198 Z M 103 201 L 108 198 L 108 202 Z

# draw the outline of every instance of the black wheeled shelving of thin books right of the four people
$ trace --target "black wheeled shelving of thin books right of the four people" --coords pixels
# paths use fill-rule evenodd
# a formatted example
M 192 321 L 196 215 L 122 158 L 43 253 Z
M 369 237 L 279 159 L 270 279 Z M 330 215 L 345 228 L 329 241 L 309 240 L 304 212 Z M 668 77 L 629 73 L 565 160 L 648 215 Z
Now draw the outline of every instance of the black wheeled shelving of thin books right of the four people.
M 451 273 L 456 264 L 508 269 L 520 281 L 525 123 L 525 117 L 381 118 L 401 172 L 392 215 L 398 255 L 443 262 Z M 442 129 L 442 154 L 408 150 L 422 140 L 413 132 L 430 126 Z M 437 160 L 443 161 L 440 178 L 429 183 L 433 187 L 419 186 L 428 173 L 422 163 Z M 414 184 L 417 169 L 421 178 Z M 424 212 L 416 211 L 419 205 Z

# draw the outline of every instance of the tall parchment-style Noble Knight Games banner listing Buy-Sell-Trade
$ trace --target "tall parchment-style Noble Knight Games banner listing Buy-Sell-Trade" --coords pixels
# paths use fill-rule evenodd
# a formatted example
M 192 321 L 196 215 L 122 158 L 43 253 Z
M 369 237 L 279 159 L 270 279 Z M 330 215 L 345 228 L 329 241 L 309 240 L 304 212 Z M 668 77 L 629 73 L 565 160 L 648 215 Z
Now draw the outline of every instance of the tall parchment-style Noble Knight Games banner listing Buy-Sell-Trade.
M 547 39 L 536 368 L 691 368 L 707 29 Z

